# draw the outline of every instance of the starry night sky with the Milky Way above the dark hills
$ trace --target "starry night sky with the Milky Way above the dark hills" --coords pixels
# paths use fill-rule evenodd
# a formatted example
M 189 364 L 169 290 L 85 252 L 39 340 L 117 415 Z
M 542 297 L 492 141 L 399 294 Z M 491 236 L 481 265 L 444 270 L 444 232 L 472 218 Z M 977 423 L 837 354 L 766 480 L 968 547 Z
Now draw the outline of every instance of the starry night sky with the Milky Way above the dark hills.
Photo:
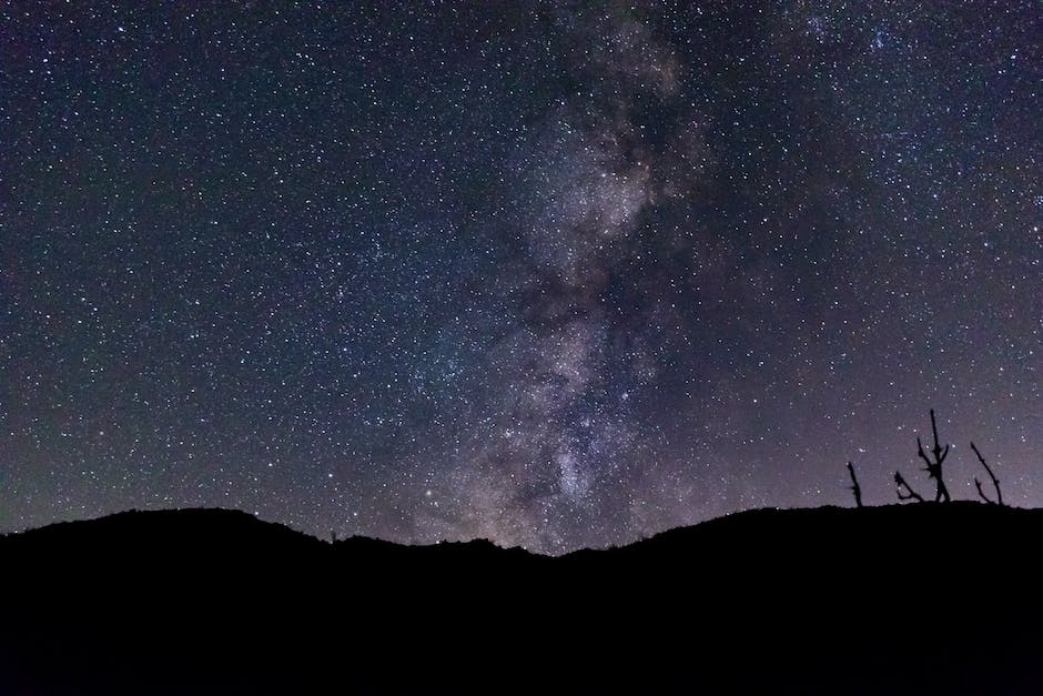
M 0 2 L 0 532 L 1043 505 L 1043 7 Z

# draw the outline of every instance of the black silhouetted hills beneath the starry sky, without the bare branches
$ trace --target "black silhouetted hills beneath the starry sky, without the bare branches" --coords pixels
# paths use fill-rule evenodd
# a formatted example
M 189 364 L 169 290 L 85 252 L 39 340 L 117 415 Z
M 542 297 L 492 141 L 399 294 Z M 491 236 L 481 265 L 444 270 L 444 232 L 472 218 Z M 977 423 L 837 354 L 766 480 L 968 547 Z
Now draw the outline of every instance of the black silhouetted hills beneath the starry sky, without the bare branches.
M 753 511 L 561 558 L 236 512 L 0 538 L 0 694 L 1043 694 L 1043 510 Z

